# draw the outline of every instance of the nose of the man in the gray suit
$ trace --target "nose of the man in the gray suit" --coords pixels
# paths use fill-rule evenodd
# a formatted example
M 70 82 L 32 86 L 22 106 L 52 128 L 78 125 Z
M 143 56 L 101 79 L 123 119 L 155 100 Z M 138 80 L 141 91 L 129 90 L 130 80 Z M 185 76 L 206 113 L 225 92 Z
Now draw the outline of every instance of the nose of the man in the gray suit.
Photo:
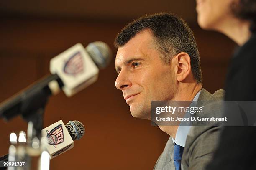
M 115 87 L 119 90 L 124 90 L 131 86 L 129 75 L 125 71 L 120 71 L 118 77 L 115 80 Z

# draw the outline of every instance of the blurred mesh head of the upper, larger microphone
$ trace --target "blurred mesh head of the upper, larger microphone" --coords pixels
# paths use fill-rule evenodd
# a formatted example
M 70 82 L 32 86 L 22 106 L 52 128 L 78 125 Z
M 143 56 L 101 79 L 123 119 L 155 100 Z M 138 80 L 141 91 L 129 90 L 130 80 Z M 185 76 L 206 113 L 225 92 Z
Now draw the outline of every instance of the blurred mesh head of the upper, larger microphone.
M 105 68 L 110 63 L 112 52 L 108 44 L 102 41 L 95 41 L 88 44 L 85 49 L 100 69 Z

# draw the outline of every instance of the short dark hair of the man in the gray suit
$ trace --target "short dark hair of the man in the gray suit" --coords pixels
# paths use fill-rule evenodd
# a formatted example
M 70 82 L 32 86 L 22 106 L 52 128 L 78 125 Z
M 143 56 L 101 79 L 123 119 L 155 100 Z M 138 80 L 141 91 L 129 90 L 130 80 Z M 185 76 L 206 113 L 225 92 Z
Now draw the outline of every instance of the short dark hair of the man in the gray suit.
M 131 38 L 143 30 L 153 33 L 156 48 L 162 54 L 164 63 L 170 63 L 173 56 L 185 52 L 190 56 L 192 74 L 197 83 L 202 83 L 197 43 L 187 23 L 176 15 L 158 13 L 145 15 L 125 26 L 115 38 L 117 48 L 124 46 Z

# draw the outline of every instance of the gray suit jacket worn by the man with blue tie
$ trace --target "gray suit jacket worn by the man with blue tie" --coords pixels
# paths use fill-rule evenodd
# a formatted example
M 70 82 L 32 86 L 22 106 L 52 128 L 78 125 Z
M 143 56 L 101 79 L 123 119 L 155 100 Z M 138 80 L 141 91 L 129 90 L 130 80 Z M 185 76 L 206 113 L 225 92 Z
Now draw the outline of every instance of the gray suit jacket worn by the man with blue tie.
M 205 89 L 201 90 L 200 96 L 197 101 L 221 101 L 224 97 L 224 90 L 215 91 L 214 94 L 210 94 Z M 212 104 L 212 102 L 209 102 Z M 209 105 L 210 105 L 209 104 Z M 210 110 L 204 110 L 200 113 L 200 116 L 212 115 L 220 117 L 221 113 L 218 112 L 220 106 L 218 103 L 214 103 L 210 106 Z M 216 115 L 218 114 L 218 115 Z M 199 116 L 195 114 L 195 117 Z M 186 145 L 184 147 L 182 155 L 182 170 L 204 170 L 207 163 L 212 159 L 213 152 L 218 144 L 218 136 L 220 133 L 220 127 L 216 124 L 205 126 L 204 122 L 193 122 L 189 134 L 187 135 Z M 175 170 L 173 162 L 174 145 L 172 137 L 166 143 L 164 151 L 158 158 L 154 170 Z

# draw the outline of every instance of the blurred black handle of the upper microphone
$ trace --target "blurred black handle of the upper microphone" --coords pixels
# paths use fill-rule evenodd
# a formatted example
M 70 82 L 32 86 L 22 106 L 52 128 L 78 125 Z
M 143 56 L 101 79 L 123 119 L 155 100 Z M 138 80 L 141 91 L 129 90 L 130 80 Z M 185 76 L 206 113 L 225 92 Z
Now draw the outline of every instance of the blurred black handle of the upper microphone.
M 34 118 L 33 114 L 45 108 L 49 96 L 53 93 L 49 84 L 54 81 L 59 88 L 63 86 L 59 76 L 52 74 L 7 99 L 0 105 L 0 117 L 8 121 L 21 114 L 25 120 L 30 121 Z

